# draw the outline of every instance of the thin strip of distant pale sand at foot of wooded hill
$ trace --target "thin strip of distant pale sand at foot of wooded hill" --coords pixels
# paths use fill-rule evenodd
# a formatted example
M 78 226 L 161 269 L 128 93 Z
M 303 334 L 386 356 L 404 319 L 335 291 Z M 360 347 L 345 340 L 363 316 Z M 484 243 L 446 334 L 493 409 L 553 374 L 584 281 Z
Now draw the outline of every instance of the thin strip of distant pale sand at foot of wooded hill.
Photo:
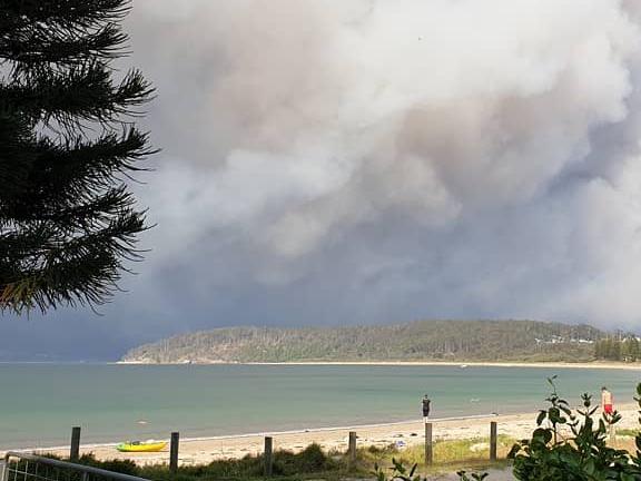
M 641 363 L 618 362 L 481 362 L 481 361 L 292 361 L 292 362 L 223 362 L 191 361 L 154 363 L 147 361 L 117 361 L 118 365 L 363 365 L 363 366 L 458 366 L 458 367 L 558 367 L 558 369 L 603 369 L 641 371 Z

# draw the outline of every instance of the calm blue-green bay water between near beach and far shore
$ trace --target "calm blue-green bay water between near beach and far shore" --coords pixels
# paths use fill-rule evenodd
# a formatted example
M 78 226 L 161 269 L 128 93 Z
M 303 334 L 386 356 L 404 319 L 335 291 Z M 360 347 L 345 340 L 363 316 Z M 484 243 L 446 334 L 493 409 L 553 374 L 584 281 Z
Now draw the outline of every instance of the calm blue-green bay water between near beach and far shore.
M 0 449 L 216 436 L 514 413 L 544 406 L 546 377 L 573 404 L 608 385 L 632 402 L 641 372 L 374 365 L 0 364 Z

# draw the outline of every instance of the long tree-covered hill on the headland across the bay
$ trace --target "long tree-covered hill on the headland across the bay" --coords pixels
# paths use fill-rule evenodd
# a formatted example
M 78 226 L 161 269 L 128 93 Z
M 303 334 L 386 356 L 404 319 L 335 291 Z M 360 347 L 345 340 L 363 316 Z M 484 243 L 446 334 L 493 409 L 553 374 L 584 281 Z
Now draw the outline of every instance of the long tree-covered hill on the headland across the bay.
M 352 327 L 229 327 L 132 349 L 127 362 L 594 360 L 604 333 L 535 321 L 417 321 Z

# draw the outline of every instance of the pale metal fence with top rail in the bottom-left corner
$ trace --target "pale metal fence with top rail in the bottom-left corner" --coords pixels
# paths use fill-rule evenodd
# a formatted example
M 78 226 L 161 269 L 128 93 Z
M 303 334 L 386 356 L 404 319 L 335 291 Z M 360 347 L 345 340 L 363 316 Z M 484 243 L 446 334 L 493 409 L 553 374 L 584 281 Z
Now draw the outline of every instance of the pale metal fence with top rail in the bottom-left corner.
M 148 481 L 34 454 L 8 452 L 0 481 Z

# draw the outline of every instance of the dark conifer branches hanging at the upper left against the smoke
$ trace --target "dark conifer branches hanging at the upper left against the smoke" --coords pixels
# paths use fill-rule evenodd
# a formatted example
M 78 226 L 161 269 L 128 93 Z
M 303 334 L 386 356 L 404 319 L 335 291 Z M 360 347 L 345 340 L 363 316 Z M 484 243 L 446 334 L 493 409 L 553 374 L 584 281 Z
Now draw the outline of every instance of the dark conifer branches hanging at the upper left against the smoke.
M 129 0 L 0 0 L 0 312 L 98 305 L 148 226 L 127 181 L 152 154 L 154 89 L 127 55 Z

